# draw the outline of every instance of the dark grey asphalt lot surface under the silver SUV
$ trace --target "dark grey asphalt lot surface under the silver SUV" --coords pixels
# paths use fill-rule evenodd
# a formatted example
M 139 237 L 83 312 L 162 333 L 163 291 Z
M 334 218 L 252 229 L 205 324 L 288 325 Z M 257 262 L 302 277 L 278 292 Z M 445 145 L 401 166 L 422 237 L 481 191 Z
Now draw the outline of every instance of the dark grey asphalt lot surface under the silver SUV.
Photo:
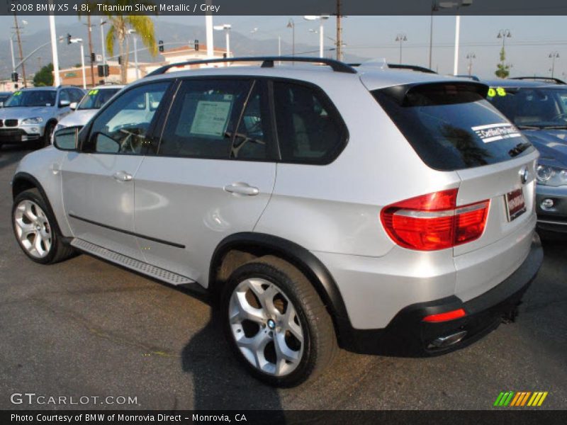
M 23 392 L 137 398 L 82 406 L 108 409 L 490 409 L 507 390 L 567 407 L 567 239 L 544 245 L 517 321 L 476 344 L 436 358 L 342 351 L 317 380 L 274 390 L 235 361 L 202 300 L 86 255 L 28 260 L 9 184 L 26 153 L 0 149 L 0 409 L 56 407 L 12 404 Z

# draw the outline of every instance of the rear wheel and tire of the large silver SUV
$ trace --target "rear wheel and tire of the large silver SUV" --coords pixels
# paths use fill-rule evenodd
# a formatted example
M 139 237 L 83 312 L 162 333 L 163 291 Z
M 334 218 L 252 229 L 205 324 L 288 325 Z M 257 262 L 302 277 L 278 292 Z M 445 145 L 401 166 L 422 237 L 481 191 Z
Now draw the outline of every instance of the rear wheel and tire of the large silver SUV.
M 309 280 L 282 259 L 264 256 L 237 268 L 221 308 L 236 356 L 269 385 L 299 385 L 335 358 L 330 314 Z

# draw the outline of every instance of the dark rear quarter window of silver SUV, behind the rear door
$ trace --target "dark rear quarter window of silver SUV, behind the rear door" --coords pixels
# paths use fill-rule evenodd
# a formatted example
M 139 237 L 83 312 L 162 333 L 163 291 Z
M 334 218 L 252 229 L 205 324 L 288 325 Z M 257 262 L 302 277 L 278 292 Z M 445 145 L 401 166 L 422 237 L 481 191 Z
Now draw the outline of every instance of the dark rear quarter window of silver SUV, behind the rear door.
M 325 164 L 335 159 L 346 142 L 346 128 L 321 91 L 276 81 L 274 103 L 283 162 Z

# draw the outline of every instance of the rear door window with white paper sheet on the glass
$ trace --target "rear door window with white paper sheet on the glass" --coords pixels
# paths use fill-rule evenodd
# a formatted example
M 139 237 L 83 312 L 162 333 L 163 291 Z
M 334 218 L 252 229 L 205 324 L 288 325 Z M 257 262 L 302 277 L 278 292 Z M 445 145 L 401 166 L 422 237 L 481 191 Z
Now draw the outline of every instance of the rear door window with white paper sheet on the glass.
M 159 155 L 266 159 L 269 119 L 261 84 L 244 79 L 186 80 L 176 94 Z

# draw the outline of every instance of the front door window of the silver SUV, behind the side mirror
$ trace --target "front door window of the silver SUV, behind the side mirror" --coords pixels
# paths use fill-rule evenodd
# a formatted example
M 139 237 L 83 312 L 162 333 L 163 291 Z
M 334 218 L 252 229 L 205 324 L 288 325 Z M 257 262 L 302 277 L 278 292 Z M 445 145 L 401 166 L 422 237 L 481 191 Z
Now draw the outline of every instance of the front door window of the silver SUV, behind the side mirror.
M 91 126 L 84 151 L 140 154 L 169 81 L 145 84 L 116 98 Z

